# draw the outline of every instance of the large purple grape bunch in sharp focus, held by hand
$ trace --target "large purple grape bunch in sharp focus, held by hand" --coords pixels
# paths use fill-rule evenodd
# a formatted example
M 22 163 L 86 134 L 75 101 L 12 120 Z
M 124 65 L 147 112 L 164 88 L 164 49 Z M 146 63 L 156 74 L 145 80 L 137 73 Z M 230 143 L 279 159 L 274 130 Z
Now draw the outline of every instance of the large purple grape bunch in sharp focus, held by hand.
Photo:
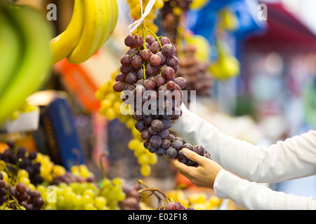
M 135 127 L 150 153 L 197 167 L 198 164 L 185 158 L 181 150 L 188 148 L 211 158 L 205 148 L 187 144 L 169 133 L 169 128 L 182 114 L 182 89 L 186 84 L 184 78 L 173 77 L 179 63 L 176 48 L 166 36 L 156 36 L 154 40 L 146 34 L 144 38 L 137 34 L 126 36 L 125 45 L 130 49 L 121 57 L 121 72 L 115 78 L 113 89 L 123 92 L 123 102 L 132 106 Z

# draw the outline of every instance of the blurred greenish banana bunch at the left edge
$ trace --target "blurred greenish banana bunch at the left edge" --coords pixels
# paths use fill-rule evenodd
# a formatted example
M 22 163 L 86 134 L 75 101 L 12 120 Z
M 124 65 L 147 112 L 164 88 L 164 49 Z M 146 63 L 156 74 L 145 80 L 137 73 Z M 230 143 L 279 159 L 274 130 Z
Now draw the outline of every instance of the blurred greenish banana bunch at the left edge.
M 51 28 L 39 11 L 0 1 L 0 123 L 48 78 Z

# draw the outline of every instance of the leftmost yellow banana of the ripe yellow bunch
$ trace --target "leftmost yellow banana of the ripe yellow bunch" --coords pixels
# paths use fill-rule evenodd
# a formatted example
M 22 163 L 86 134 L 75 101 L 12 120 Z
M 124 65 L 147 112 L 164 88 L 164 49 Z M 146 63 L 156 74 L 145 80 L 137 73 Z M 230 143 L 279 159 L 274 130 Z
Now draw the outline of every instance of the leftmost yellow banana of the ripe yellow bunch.
M 55 64 L 64 57 L 70 55 L 77 43 L 79 43 L 83 27 L 84 2 L 83 0 L 75 0 L 70 24 L 68 25 L 67 29 L 62 32 L 62 34 L 56 36 L 50 42 L 53 53 L 51 64 Z

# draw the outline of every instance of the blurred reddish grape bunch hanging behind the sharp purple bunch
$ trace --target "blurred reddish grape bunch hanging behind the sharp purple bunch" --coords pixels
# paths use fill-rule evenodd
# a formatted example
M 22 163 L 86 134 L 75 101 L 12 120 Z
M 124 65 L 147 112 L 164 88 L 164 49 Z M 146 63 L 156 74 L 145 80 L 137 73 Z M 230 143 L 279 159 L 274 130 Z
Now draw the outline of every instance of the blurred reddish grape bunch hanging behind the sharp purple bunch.
M 183 90 L 189 91 L 187 94 L 190 102 L 190 90 L 195 90 L 197 96 L 210 97 L 213 81 L 209 73 L 209 63 L 202 62 L 195 58 L 195 46 L 187 45 L 183 49 L 185 57 L 179 57 L 179 71 L 175 77 L 183 77 L 186 85 Z

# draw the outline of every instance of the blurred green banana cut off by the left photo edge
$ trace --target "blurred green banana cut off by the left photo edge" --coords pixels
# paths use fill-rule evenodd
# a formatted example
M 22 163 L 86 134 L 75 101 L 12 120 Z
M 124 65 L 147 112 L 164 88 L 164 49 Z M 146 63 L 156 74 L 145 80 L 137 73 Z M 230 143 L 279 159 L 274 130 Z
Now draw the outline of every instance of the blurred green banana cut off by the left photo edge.
M 22 38 L 0 6 L 0 96 L 10 84 L 22 55 Z

